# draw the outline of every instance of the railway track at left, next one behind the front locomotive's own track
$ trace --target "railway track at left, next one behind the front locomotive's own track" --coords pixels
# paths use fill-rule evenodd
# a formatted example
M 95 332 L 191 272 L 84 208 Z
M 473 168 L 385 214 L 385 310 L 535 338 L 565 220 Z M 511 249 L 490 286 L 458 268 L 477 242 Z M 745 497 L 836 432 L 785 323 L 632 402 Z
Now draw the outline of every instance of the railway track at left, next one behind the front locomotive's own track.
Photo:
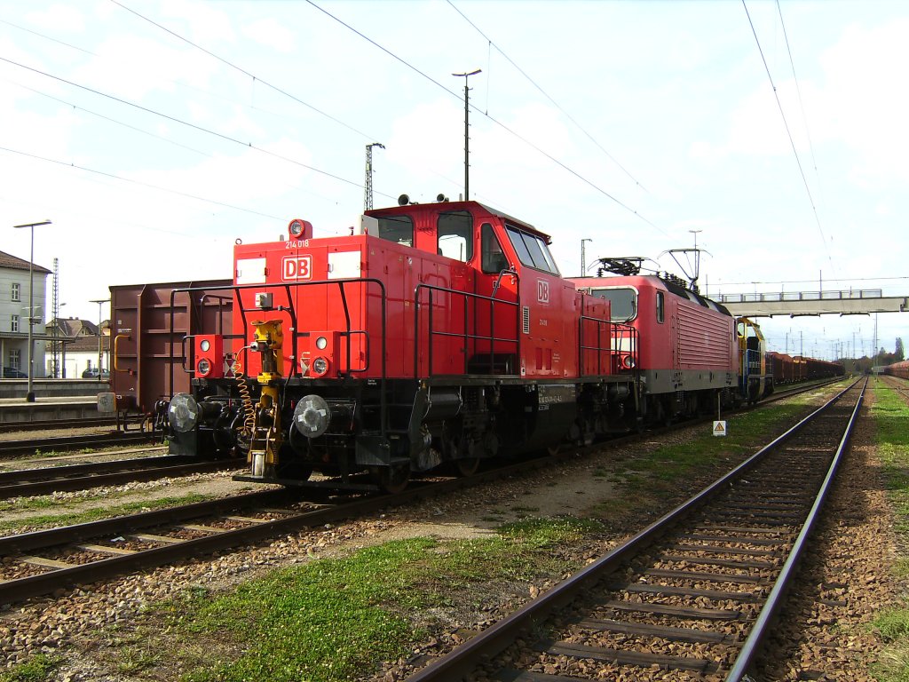
M 0 499 L 117 486 L 168 476 L 207 474 L 239 468 L 245 464 L 244 458 L 200 462 L 192 457 L 159 456 L 5 471 L 0 472 Z

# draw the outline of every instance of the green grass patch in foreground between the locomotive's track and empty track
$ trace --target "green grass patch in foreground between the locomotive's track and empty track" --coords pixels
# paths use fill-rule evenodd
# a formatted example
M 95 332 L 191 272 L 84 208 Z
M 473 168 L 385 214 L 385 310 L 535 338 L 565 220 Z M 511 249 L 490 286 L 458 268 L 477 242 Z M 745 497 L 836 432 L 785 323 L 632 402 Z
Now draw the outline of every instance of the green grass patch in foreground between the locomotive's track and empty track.
M 575 568 L 554 548 L 601 531 L 572 517 L 527 519 L 495 537 L 395 540 L 282 568 L 222 595 L 198 588 L 125 633 L 119 665 L 156 667 L 167 652 L 185 682 L 349 680 L 425 638 L 429 624 L 409 618 L 415 609 L 443 608 L 460 587 Z

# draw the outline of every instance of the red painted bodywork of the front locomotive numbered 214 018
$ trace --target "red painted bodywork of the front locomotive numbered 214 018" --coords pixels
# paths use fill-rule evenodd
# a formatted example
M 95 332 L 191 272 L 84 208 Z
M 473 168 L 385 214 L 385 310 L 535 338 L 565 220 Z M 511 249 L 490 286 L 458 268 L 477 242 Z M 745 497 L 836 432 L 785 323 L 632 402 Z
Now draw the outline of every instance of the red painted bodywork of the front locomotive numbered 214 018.
M 439 214 L 458 211 L 469 212 L 474 222 L 474 253 L 465 262 L 439 255 L 436 239 Z M 399 206 L 366 215 L 409 216 L 414 246 L 370 234 L 235 246 L 242 305 L 234 306 L 233 328 L 242 337 L 232 347 L 243 373 L 253 376 L 260 369 L 255 353 L 242 350 L 252 338 L 251 323 L 275 319 L 284 330 L 284 376 L 312 376 L 308 367 L 315 356 L 328 360 L 325 378 L 495 373 L 556 379 L 613 373 L 608 343 L 594 349 L 585 341 L 588 349 L 579 350 L 579 334 L 608 338 L 603 331 L 608 303 L 580 294 L 558 274 L 521 263 L 505 226 L 548 241 L 533 227 L 475 202 Z M 484 273 L 479 266 L 484 225 L 492 226 L 504 251 L 509 270 L 504 275 Z M 271 296 L 270 309 L 256 307 L 262 295 Z M 583 324 L 582 310 L 589 318 Z M 324 350 L 315 347 L 319 337 L 327 341 Z M 488 371 L 490 363 L 495 372 Z

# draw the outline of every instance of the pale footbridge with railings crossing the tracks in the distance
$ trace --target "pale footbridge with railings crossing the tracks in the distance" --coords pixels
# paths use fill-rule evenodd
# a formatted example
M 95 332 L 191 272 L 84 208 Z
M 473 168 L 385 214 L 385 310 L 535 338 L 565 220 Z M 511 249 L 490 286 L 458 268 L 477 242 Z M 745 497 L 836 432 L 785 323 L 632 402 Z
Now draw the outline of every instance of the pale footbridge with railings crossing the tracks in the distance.
M 884 296 L 881 289 L 720 294 L 714 298 L 734 316 L 870 315 L 909 312 L 909 296 Z

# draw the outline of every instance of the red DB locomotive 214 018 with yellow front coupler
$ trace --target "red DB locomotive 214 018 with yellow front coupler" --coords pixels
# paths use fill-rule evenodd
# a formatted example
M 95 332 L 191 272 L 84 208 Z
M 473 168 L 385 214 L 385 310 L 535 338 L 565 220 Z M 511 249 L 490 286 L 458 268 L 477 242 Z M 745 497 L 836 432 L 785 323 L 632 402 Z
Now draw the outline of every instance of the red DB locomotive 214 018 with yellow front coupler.
M 562 278 L 548 236 L 472 201 L 400 204 L 349 236 L 295 220 L 285 241 L 235 246 L 233 284 L 177 292 L 229 298 L 233 319 L 185 339 L 191 388 L 162 406 L 172 453 L 245 453 L 255 481 L 369 472 L 395 490 L 443 462 L 468 474 L 634 425 L 639 356 L 658 342 Z M 724 325 L 705 333 L 709 361 L 683 358 L 699 386 L 714 371 L 734 386 Z

